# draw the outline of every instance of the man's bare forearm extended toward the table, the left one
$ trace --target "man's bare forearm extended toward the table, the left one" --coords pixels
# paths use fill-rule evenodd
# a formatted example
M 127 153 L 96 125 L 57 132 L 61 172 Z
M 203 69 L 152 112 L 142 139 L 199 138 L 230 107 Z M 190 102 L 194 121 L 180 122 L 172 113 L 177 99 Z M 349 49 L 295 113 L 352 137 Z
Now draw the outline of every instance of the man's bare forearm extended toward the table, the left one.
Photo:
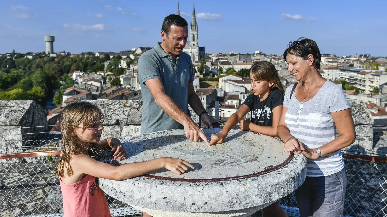
M 180 124 L 185 125 L 187 122 L 192 121 L 190 117 L 188 117 L 187 113 L 183 112 L 183 110 L 180 109 L 176 103 L 173 102 L 173 100 L 165 93 L 159 93 L 156 98 L 156 103 L 159 105 L 159 107 Z

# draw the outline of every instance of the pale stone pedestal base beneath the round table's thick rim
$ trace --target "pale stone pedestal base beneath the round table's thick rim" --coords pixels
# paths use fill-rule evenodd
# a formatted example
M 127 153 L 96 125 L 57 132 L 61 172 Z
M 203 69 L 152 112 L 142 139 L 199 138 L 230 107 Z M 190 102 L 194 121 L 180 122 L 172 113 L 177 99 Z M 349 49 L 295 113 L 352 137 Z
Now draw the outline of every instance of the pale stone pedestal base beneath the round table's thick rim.
M 130 205 L 131 207 L 146 212 L 153 217 L 250 217 L 252 214 L 257 212 L 260 209 L 263 209 L 274 202 L 265 203 L 256 207 L 250 207 L 247 209 L 232 210 L 226 212 L 207 212 L 207 213 L 197 213 L 197 212 L 170 212 L 162 210 L 147 209 L 144 207 L 138 207 Z

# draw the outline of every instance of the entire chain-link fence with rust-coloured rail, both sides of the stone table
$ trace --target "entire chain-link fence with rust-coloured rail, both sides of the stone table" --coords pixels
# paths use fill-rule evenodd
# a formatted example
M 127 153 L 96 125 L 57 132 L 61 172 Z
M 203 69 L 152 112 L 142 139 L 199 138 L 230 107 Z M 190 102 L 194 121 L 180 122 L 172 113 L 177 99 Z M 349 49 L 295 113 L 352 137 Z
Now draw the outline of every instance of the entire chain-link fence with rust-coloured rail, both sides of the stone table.
M 61 140 L 20 141 L 28 150 L 0 154 L 0 217 L 62 216 L 60 182 L 54 172 Z M 344 215 L 387 217 L 387 158 L 364 149 L 343 150 L 347 170 Z M 106 195 L 112 216 L 140 215 Z M 281 199 L 289 216 L 299 216 L 294 194 Z

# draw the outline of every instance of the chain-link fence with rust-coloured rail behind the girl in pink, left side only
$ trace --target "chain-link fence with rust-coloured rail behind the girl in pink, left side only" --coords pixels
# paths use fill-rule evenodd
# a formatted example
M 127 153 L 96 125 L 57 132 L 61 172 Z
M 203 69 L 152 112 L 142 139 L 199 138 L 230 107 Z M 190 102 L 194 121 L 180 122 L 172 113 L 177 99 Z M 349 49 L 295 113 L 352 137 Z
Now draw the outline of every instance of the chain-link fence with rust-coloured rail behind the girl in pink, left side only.
M 63 216 L 60 181 L 54 172 L 60 139 L 20 141 L 30 149 L 0 155 L 0 217 Z M 141 212 L 106 195 L 113 217 L 131 217 Z

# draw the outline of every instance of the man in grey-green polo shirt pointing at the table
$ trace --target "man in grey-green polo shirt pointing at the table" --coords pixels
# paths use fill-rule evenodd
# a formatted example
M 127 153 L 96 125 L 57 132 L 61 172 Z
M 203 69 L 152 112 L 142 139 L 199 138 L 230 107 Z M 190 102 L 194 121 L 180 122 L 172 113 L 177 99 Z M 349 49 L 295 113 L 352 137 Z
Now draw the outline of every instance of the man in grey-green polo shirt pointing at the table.
M 183 52 L 188 39 L 188 23 L 178 15 L 167 16 L 161 27 L 163 42 L 143 53 L 138 61 L 142 92 L 141 133 L 184 128 L 187 138 L 200 137 L 209 144 L 203 131 L 188 116 L 188 103 L 208 127 L 217 123 L 210 117 L 194 90 L 191 57 Z

